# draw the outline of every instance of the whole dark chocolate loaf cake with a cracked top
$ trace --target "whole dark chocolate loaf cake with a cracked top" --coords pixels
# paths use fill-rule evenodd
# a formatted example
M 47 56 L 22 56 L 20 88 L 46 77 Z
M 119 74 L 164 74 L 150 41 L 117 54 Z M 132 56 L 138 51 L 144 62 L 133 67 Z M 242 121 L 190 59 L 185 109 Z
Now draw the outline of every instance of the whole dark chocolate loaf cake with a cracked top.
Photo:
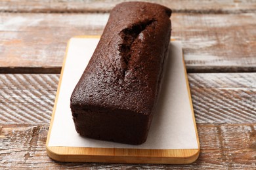
M 77 133 L 104 141 L 146 141 L 171 36 L 171 9 L 121 3 L 71 96 Z

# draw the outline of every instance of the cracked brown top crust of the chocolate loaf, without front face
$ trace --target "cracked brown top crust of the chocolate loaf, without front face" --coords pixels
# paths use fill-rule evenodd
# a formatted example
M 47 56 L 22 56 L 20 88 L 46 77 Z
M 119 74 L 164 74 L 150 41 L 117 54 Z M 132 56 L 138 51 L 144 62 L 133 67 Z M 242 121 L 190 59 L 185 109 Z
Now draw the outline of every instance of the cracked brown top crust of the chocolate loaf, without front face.
M 117 5 L 71 97 L 71 105 L 151 114 L 169 45 L 171 9 Z

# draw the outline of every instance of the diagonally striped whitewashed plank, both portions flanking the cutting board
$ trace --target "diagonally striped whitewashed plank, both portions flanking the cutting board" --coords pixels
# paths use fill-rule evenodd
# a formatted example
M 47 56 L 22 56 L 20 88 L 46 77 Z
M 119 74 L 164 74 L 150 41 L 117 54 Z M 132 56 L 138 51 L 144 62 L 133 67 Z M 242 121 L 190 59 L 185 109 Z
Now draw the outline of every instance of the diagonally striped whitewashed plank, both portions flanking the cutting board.
M 0 124 L 49 124 L 59 75 L 0 75 Z M 188 74 L 197 123 L 253 123 L 256 73 Z

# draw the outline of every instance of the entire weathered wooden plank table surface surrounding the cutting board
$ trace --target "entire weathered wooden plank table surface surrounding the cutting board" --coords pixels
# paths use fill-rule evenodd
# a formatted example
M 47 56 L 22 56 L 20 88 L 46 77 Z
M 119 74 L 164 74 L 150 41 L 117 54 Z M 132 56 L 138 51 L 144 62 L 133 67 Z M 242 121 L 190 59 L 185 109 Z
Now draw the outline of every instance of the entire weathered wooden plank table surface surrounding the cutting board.
M 256 169 L 256 1 L 167 1 L 201 152 L 189 165 L 60 163 L 45 150 L 66 43 L 121 1 L 0 2 L 0 169 Z

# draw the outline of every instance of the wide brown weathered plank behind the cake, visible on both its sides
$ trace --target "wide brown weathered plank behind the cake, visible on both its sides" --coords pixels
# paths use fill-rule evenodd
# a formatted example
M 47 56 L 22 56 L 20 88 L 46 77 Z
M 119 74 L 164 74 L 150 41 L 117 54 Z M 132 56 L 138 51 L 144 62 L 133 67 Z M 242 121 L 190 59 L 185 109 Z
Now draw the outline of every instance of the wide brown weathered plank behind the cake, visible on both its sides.
M 256 71 L 256 13 L 175 13 L 188 73 Z M 0 73 L 60 73 L 68 39 L 100 35 L 108 14 L 1 13 Z

